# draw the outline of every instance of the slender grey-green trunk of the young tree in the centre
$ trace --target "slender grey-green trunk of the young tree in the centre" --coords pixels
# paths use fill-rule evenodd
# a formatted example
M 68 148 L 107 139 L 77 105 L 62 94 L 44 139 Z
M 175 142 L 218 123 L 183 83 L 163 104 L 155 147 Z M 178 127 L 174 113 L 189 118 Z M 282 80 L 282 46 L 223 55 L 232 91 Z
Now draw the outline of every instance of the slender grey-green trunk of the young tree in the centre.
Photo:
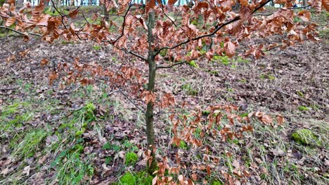
M 155 90 L 155 71 L 156 62 L 153 50 L 153 33 L 152 29 L 155 25 L 155 13 L 148 13 L 148 91 L 154 93 Z M 151 151 L 152 159 L 147 163 L 146 167 L 149 174 L 153 174 L 157 167 L 157 161 L 153 147 L 155 147 L 155 132 L 154 132 L 154 117 L 153 117 L 153 102 L 148 102 L 146 107 L 146 136 L 148 138 L 148 149 Z

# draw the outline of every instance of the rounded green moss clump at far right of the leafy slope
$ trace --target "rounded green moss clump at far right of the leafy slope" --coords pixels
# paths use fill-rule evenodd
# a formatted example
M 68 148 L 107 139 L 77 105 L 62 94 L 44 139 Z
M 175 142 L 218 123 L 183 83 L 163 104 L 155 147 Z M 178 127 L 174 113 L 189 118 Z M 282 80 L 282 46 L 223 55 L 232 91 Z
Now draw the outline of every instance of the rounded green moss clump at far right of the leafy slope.
M 291 139 L 302 145 L 320 144 L 318 137 L 308 129 L 300 129 L 292 133 Z

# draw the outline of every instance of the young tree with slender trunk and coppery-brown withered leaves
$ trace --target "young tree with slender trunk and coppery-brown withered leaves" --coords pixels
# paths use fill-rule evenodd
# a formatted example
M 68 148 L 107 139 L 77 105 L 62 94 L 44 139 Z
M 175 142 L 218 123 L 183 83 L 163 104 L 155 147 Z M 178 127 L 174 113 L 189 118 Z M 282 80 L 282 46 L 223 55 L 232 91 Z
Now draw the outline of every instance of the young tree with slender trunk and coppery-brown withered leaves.
M 216 55 L 233 57 L 240 43 L 247 42 L 252 37 L 266 38 L 278 34 L 282 39 L 276 43 L 249 46 L 249 50 L 240 52 L 240 55 L 259 58 L 266 50 L 286 48 L 305 40 L 316 40 L 316 25 L 309 22 L 311 13 L 299 11 L 296 14 L 292 10 L 292 1 L 275 1 L 285 4 L 285 8 L 266 15 L 256 12 L 263 11 L 264 6 L 271 0 L 240 0 L 240 8 L 236 11 L 232 9 L 236 2 L 231 0 L 194 1 L 190 6 L 174 6 L 176 0 L 169 0 L 166 5 L 162 4 L 162 1 L 148 0 L 145 8 L 132 8 L 134 1 L 129 0 L 102 2 L 108 10 L 116 8 L 117 13 L 111 14 L 109 20 L 101 20 L 100 25 L 90 24 L 86 20 L 86 25 L 77 28 L 72 19 L 79 14 L 79 7 L 67 15 L 60 13 L 59 16 L 51 17 L 42 13 L 43 1 L 33 9 L 27 3 L 19 11 L 15 11 L 15 1 L 9 0 L 0 8 L 0 17 L 5 22 L 1 28 L 23 34 L 25 39 L 29 39 L 30 35 L 42 36 L 50 43 L 63 38 L 110 44 L 120 56 L 132 55 L 146 62 L 146 89 L 143 88 L 144 81 L 138 70 L 124 68 L 124 74 L 121 76 L 95 66 L 90 70 L 96 76 L 113 78 L 110 83 L 118 89 L 124 84 L 123 81 L 133 78 L 138 81 L 134 85 L 134 93 L 146 100 L 146 135 L 150 149 L 147 167 L 150 173 L 154 172 L 156 167 L 154 107 L 165 108 L 175 103 L 171 94 L 162 98 L 156 97 L 157 70 L 172 68 L 200 58 L 211 60 Z M 321 0 L 314 0 L 311 4 L 318 11 L 321 11 L 321 7 L 328 10 L 328 1 L 323 0 L 321 3 Z M 55 9 L 57 11 L 56 7 Z M 304 20 L 305 24 L 294 22 L 295 16 Z M 15 25 L 15 29 L 11 28 L 12 25 Z M 203 49 L 205 46 L 209 46 L 209 49 Z M 75 67 L 82 71 L 84 65 L 76 60 Z M 60 68 L 65 67 L 62 65 Z M 53 73 L 49 77 L 53 81 L 58 74 Z M 87 83 L 88 80 L 83 78 L 80 82 Z

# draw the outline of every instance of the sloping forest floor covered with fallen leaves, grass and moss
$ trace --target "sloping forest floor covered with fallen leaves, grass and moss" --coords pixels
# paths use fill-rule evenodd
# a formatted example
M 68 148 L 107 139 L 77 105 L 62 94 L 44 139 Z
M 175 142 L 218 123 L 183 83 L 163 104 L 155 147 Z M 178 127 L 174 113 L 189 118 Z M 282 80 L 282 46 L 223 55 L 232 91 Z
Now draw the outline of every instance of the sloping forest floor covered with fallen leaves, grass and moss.
M 328 26 L 323 30 L 328 33 Z M 143 173 L 144 117 L 134 104 L 102 81 L 65 89 L 59 81 L 49 85 L 49 73 L 58 62 L 75 57 L 119 69 L 122 61 L 110 46 L 49 44 L 38 38 L 24 43 L 15 34 L 1 37 L 0 43 L 0 184 L 150 182 Z M 175 111 L 188 121 L 195 118 L 195 110 L 202 110 L 205 118 L 209 106 L 218 104 L 236 105 L 240 116 L 261 111 L 285 121 L 264 124 L 254 119 L 252 132 L 226 141 L 197 125 L 193 137 L 204 146 L 195 148 L 188 142 L 172 144 L 174 125 L 169 115 L 157 111 L 157 158 L 167 156 L 174 166 L 179 155 L 185 166 L 180 174 L 195 184 L 329 184 L 328 43 L 326 35 L 316 43 L 271 50 L 259 60 L 219 57 L 196 61 L 198 67 L 160 70 L 157 94 L 171 92 L 177 104 L 187 102 Z M 41 67 L 44 57 L 50 62 Z M 134 62 L 147 76 L 146 64 L 123 62 Z M 123 90 L 129 92 L 129 87 Z M 140 100 L 133 101 L 143 107 Z M 228 123 L 224 117 L 214 130 L 220 132 Z M 292 139 L 293 133 L 299 140 Z

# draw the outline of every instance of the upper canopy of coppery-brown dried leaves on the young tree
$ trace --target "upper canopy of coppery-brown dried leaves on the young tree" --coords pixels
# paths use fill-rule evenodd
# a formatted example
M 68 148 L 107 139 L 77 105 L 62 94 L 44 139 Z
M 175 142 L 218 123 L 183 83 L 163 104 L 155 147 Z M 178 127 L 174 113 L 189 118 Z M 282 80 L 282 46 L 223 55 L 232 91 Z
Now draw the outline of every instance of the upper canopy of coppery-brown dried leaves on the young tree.
M 283 35 L 280 43 L 268 43 L 268 46 L 254 45 L 244 55 L 260 57 L 264 49 L 273 47 L 285 48 L 295 42 L 307 39 L 314 40 L 316 25 L 310 23 L 311 13 L 307 10 L 295 13 L 292 10 L 292 1 L 276 1 L 285 4 L 272 15 L 265 16 L 256 11 L 264 10 L 269 0 L 240 1 L 238 11 L 233 11 L 236 4 L 229 0 L 195 1 L 194 6 L 173 6 L 176 1 L 169 1 L 163 5 L 161 1 L 149 1 L 146 8 L 131 8 L 134 6 L 129 0 L 102 1 L 108 7 L 115 8 L 117 12 L 111 15 L 110 20 L 101 20 L 101 24 L 86 24 L 76 27 L 74 19 L 79 14 L 79 8 L 67 15 L 60 13 L 51 16 L 43 13 L 44 4 L 32 8 L 27 2 L 20 10 L 16 10 L 15 1 L 10 0 L 0 8 L 0 16 L 6 27 L 15 25 L 15 30 L 25 34 L 28 39 L 29 32 L 41 34 L 45 41 L 53 42 L 60 37 L 66 40 L 86 40 L 99 43 L 112 44 L 120 54 L 130 53 L 141 59 L 146 59 L 149 50 L 147 21 L 148 13 L 155 12 L 155 29 L 152 30 L 154 42 L 152 50 L 158 54 L 168 49 L 167 57 L 174 58 L 174 62 L 192 60 L 198 57 L 211 58 L 214 55 L 236 55 L 236 49 L 243 40 L 252 37 Z M 328 10 L 327 0 L 314 0 L 310 2 L 316 11 L 321 8 Z M 295 17 L 304 22 L 294 22 Z M 95 15 L 93 18 L 97 18 Z M 200 53 L 205 44 L 212 43 L 207 53 Z M 187 52 L 191 52 L 186 55 Z M 161 59 L 160 56 L 156 60 Z

